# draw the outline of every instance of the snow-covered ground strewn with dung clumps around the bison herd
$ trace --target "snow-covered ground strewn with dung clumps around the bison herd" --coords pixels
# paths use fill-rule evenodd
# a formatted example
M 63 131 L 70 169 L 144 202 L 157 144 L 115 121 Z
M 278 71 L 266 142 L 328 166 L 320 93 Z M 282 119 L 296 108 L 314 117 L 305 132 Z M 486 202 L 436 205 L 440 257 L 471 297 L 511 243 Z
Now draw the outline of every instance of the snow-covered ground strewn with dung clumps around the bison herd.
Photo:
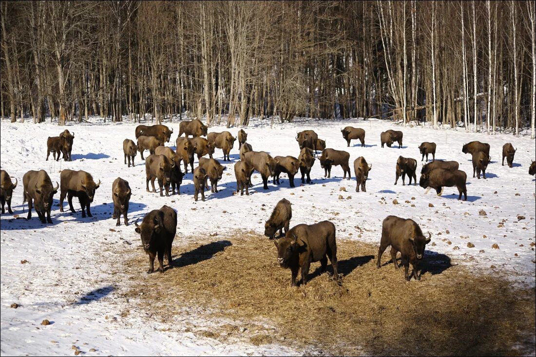
M 0 221 L 2 354 L 63 355 L 72 353 L 73 345 L 87 355 L 296 353 L 282 346 L 257 347 L 242 341 L 224 344 L 196 336 L 187 329 L 177 330 L 176 326 L 181 324 L 211 323 L 195 311 L 187 311 L 168 324 L 152 321 L 150 311 L 121 317 L 121 311 L 129 308 L 128 299 L 120 294 L 126 282 L 111 273 L 111 267 L 121 265 L 125 255 L 135 251 L 139 236 L 133 225 L 116 227 L 115 220 L 111 219 L 111 184 L 118 176 L 129 181 L 133 191 L 131 223 L 164 204 L 177 210 L 178 236 L 174 244 L 194 234 L 208 236 L 218 232 L 219 236 L 225 236 L 235 229 L 262 233 L 272 207 L 279 199 L 287 198 L 293 204 L 292 225 L 329 219 L 337 227 L 338 239 L 377 243 L 386 215 L 412 218 L 423 232 L 432 234 L 435 245 L 430 244 L 429 251 L 446 254 L 459 264 L 473 264 L 481 268 L 479 273 L 502 270 L 511 272 L 516 280 L 534 285 L 535 180 L 528 175 L 528 166 L 536 156 L 536 147 L 529 137 L 487 136 L 465 133 L 463 129 L 404 128 L 374 119 L 297 120 L 296 123 L 275 124 L 273 128 L 267 120 L 252 120 L 244 130 L 254 150 L 267 151 L 272 156 L 297 157 L 296 131 L 314 129 L 319 138 L 326 140 L 327 147 L 350 153 L 352 180 L 342 179 L 343 170 L 339 166 L 332 168 L 331 178 L 324 179 L 324 170 L 316 160 L 311 171 L 312 184 L 300 187 L 298 175 L 297 187 L 289 188 L 283 174 L 280 185 L 269 183 L 270 189 L 265 191 L 260 175 L 255 173 L 253 194 L 249 197 L 233 195 L 236 188 L 233 165 L 239 158 L 236 143 L 230 155 L 231 163 L 221 161 L 221 150 L 215 152 L 214 158 L 227 168 L 219 183 L 220 191 L 215 194 L 208 191 L 205 202 L 196 203 L 191 172 L 184 177 L 181 196 L 160 197 L 145 191 L 145 165 L 139 155 L 136 167 L 124 165 L 122 142 L 125 138 L 135 140 L 137 124 L 102 123 L 100 118 L 92 118 L 92 123 L 69 124 L 66 128 L 75 132 L 72 162 L 56 162 L 52 157 L 45 161 L 47 137 L 57 136 L 65 128 L 31 121 L 14 124 L 2 121 L 0 126 L 1 167 L 18 178 L 12 208 L 14 214 L 20 215 L 19 219 L 14 219 L 13 215 L 5 214 Z M 167 143 L 174 148 L 178 121 L 165 124 L 174 129 L 172 140 Z M 366 147 L 361 147 L 357 140 L 346 147 L 340 133 L 340 128 L 346 125 L 366 130 Z M 399 149 L 396 143 L 391 148 L 381 148 L 379 135 L 390 128 L 404 132 L 403 148 Z M 223 125 L 209 129 L 224 130 L 227 129 Z M 236 135 L 239 128 L 228 130 Z M 471 156 L 461 152 L 461 146 L 472 140 L 491 145 L 492 163 L 488 166 L 487 180 L 472 178 Z M 437 143 L 437 159 L 460 163 L 460 169 L 468 176 L 467 202 L 457 200 L 456 188 L 445 188 L 443 196 L 437 197 L 433 190 L 425 195 L 419 185 L 403 186 L 401 179 L 398 185 L 393 184 L 398 156 L 420 162 L 418 145 L 424 141 Z M 501 166 L 502 146 L 507 142 L 518 149 L 513 168 Z M 366 158 L 373 168 L 367 192 L 358 193 L 352 163 L 359 156 Z M 31 221 L 20 219 L 27 214 L 27 206 L 24 205 L 23 212 L 22 204 L 24 173 L 45 169 L 55 183 L 59 182 L 59 172 L 65 168 L 83 169 L 91 173 L 95 181 L 101 180 L 92 204 L 93 218 L 81 218 L 76 198 L 73 203 L 76 214 L 69 212 L 66 202 L 65 212 L 59 212 L 58 193 L 52 210 L 54 224 L 42 225 L 35 213 Z M 398 204 L 393 204 L 394 199 Z M 261 210 L 262 207 L 265 210 Z M 481 210 L 486 214 L 481 215 Z M 518 216 L 525 219 L 518 220 Z M 110 232 L 110 228 L 115 232 Z M 494 244 L 498 249 L 492 248 Z M 24 261 L 27 262 L 23 264 Z M 490 267 L 492 265 L 494 267 Z M 12 303 L 21 306 L 10 308 Z M 40 325 L 43 319 L 52 324 Z

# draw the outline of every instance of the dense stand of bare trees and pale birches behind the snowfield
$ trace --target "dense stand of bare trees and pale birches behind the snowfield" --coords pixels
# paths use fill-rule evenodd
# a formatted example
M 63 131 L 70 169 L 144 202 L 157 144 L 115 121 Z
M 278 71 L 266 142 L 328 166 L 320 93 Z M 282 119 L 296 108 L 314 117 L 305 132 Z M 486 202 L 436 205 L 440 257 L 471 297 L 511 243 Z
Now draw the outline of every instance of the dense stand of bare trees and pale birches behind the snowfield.
M 379 116 L 534 137 L 530 1 L 3 1 L 1 110 Z

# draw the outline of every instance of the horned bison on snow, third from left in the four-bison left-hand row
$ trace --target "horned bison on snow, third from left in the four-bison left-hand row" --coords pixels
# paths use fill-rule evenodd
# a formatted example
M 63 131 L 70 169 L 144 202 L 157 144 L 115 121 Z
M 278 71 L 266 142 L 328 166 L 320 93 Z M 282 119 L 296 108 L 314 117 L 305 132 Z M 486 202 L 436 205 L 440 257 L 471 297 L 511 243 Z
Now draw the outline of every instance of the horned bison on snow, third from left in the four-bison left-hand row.
M 65 169 L 59 174 L 59 187 L 59 211 L 63 212 L 63 200 L 67 196 L 71 212 L 76 213 L 75 208 L 72 206 L 72 198 L 78 197 L 82 209 L 82 218 L 86 217 L 84 210 L 87 210 L 89 217 L 93 217 L 90 205 L 95 197 L 95 190 L 100 187 L 100 180 L 99 183 L 95 183 L 93 176 L 83 170 Z

